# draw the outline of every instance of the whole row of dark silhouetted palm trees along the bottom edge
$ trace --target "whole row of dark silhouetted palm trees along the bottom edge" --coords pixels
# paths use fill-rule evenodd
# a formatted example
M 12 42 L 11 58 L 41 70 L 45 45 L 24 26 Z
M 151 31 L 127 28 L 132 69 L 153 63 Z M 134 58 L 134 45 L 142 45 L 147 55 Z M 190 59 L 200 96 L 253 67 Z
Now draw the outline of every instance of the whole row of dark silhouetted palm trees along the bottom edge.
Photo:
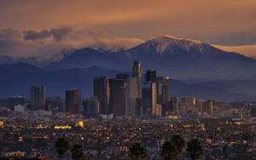
M 59 154 L 60 160 L 63 155 L 68 154 L 69 142 L 64 138 L 60 138 L 55 142 L 55 148 Z M 179 134 L 174 134 L 166 140 L 161 146 L 160 156 L 164 160 L 173 160 L 179 157 L 183 150 L 186 148 L 186 155 L 192 160 L 198 160 L 203 155 L 203 146 L 201 142 L 194 138 L 185 142 L 183 137 Z M 84 155 L 83 146 L 74 144 L 71 148 L 72 159 L 74 160 L 90 160 L 90 156 Z M 148 157 L 147 150 L 140 142 L 135 142 L 129 152 L 131 160 L 143 160 Z

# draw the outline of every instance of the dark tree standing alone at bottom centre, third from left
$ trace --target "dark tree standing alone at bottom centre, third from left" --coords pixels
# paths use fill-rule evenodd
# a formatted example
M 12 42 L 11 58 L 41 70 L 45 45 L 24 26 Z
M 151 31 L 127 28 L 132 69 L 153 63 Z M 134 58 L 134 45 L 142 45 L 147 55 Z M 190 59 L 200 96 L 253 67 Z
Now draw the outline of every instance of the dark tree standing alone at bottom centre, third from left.
M 130 148 L 129 157 L 134 160 L 146 159 L 147 151 L 143 146 L 143 144 L 139 142 L 135 142 Z

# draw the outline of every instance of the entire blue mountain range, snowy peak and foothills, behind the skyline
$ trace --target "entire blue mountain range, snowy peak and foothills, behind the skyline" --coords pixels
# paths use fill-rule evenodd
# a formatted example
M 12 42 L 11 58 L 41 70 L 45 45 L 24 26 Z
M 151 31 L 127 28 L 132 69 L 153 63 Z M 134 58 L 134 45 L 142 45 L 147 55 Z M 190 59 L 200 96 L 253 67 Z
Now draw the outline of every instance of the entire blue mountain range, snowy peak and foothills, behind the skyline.
M 154 37 L 131 49 L 87 47 L 62 49 L 44 58 L 0 56 L 0 83 L 5 84 L 0 85 L 0 97 L 28 96 L 30 85 L 36 84 L 45 85 L 48 96 L 63 95 L 65 89 L 79 87 L 88 97 L 92 94 L 93 76 L 114 77 L 118 72 L 130 72 L 134 60 L 142 62 L 143 72 L 154 68 L 158 76 L 170 76 L 173 95 L 214 100 L 256 97 L 256 60 L 171 36 Z

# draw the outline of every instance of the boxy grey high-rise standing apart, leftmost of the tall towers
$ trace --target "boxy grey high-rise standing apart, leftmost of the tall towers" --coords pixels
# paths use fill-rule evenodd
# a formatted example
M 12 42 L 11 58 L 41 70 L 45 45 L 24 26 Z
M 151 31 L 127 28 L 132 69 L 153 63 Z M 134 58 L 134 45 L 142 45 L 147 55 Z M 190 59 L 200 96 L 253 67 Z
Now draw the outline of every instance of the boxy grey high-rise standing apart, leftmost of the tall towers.
M 44 110 L 45 107 L 45 87 L 32 86 L 31 87 L 31 109 Z

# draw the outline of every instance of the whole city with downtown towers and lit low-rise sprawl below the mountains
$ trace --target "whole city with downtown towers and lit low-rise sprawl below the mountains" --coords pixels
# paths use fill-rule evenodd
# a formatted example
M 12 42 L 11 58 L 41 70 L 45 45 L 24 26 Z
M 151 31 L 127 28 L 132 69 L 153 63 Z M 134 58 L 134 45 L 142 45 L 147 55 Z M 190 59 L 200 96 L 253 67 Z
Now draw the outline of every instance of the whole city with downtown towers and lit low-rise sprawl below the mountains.
M 154 69 L 143 77 L 135 61 L 131 76 L 94 77 L 89 99 L 78 88 L 66 90 L 63 99 L 46 97 L 44 86 L 32 86 L 30 100 L 1 99 L 0 159 L 59 158 L 55 144 L 61 137 L 81 145 L 88 159 L 129 159 L 136 142 L 145 158 L 161 159 L 163 144 L 177 134 L 186 143 L 200 141 L 201 159 L 256 159 L 256 101 L 177 97 L 170 95 L 169 80 Z M 189 157 L 183 150 L 177 159 Z

